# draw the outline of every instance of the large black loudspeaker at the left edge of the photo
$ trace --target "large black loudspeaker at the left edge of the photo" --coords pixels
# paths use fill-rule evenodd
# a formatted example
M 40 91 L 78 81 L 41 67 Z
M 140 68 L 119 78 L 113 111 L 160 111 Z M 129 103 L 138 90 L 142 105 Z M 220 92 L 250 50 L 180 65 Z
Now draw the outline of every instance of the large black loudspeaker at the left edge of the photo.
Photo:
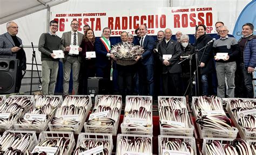
M 15 93 L 18 59 L 0 58 L 0 94 Z

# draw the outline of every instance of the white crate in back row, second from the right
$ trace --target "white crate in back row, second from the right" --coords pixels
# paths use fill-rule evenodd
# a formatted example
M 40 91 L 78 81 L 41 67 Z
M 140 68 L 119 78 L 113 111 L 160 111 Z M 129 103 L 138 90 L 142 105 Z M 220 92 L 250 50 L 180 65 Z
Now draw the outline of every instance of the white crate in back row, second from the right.
M 195 106 L 194 106 L 194 101 L 196 100 L 196 98 L 193 96 L 192 97 L 192 111 L 193 111 L 193 115 L 196 117 L 197 119 L 197 114 L 195 111 Z M 200 138 L 204 138 L 204 137 L 212 137 L 212 138 L 236 138 L 237 137 L 237 133 L 238 133 L 238 129 L 234 128 L 232 126 L 232 128 L 230 130 L 218 130 L 218 129 L 201 129 L 201 126 L 197 124 L 197 129 L 200 135 Z

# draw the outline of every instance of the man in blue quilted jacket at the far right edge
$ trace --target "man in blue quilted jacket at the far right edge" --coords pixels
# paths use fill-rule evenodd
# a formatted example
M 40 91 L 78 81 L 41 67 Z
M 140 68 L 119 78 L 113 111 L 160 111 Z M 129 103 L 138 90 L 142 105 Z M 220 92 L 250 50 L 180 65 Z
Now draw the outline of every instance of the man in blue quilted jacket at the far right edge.
M 253 34 L 252 23 L 242 25 L 242 37 L 238 41 L 240 54 L 238 58 L 238 73 L 236 78 L 236 97 L 254 98 L 253 72 L 256 67 L 256 36 Z M 240 89 L 239 89 L 240 88 Z

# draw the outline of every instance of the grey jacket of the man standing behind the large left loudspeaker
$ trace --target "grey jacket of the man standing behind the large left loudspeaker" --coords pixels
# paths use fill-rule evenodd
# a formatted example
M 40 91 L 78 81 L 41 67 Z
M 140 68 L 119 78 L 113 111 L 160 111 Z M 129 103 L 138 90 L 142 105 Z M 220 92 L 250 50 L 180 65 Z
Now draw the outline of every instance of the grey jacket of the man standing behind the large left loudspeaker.
M 22 44 L 21 38 L 17 37 L 19 43 Z M 11 52 L 11 48 L 15 47 L 14 40 L 12 40 L 11 35 L 6 32 L 0 35 L 0 58 L 8 58 L 8 59 L 16 59 L 16 52 Z M 25 52 L 23 54 L 22 59 L 22 69 L 26 69 L 26 55 Z

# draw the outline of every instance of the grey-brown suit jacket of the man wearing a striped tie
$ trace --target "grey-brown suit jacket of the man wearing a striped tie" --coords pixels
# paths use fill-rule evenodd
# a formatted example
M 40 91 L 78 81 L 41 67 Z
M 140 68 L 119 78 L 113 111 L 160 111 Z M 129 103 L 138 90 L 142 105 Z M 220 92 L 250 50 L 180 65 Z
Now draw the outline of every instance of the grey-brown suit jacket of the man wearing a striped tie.
M 78 44 L 77 45 L 80 47 L 84 34 L 82 34 L 80 32 L 78 32 L 77 34 L 78 34 Z M 70 44 L 71 44 L 71 31 L 65 32 L 65 33 L 62 34 L 62 40 L 61 40 L 61 43 L 60 43 L 60 50 L 64 50 L 65 47 L 70 46 Z M 65 58 L 63 59 L 63 63 L 66 61 L 66 57 L 68 57 L 68 53 L 65 53 L 64 57 Z M 79 62 L 82 62 L 82 57 L 81 57 L 80 54 L 79 54 L 78 60 L 79 60 Z

